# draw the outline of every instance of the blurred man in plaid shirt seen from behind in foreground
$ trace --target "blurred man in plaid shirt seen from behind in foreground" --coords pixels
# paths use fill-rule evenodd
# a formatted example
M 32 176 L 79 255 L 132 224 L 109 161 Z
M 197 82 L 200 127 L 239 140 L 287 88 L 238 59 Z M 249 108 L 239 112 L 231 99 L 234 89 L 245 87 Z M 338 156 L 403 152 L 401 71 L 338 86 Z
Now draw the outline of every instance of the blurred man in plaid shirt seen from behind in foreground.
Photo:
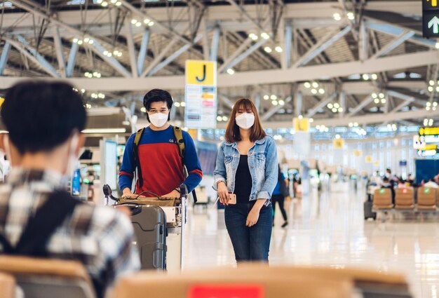
M 79 260 L 103 297 L 117 277 L 140 269 L 140 259 L 126 215 L 63 191 L 84 143 L 81 95 L 67 83 L 18 83 L 1 121 L 12 170 L 0 186 L 0 255 Z

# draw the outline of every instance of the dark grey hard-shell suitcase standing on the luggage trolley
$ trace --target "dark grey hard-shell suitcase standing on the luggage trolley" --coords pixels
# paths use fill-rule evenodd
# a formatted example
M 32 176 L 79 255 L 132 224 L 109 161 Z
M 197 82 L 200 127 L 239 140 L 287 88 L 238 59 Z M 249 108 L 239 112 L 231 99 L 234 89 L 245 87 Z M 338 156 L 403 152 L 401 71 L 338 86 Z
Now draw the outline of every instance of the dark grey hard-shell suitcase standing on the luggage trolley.
M 131 210 L 142 270 L 166 270 L 166 215 L 154 205 L 122 203 Z

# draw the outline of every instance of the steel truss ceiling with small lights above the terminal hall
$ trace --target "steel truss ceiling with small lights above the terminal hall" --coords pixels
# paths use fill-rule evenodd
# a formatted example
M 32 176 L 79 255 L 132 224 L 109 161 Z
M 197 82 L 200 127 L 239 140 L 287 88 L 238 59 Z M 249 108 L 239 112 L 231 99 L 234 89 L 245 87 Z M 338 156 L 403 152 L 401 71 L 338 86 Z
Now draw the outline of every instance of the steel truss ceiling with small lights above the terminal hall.
M 140 116 L 151 88 L 184 100 L 185 60 L 215 60 L 220 114 L 250 96 L 271 127 L 439 118 L 419 1 L 8 0 L 0 13 L 0 88 L 67 79 L 91 106 Z

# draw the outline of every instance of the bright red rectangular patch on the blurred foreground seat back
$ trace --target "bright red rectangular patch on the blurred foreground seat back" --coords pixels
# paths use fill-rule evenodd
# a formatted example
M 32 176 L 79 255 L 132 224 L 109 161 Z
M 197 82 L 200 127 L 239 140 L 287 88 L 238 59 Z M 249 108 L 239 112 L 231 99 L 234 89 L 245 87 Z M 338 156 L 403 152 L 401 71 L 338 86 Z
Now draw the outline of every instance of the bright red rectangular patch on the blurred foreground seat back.
M 264 298 L 262 285 L 193 285 L 187 298 Z

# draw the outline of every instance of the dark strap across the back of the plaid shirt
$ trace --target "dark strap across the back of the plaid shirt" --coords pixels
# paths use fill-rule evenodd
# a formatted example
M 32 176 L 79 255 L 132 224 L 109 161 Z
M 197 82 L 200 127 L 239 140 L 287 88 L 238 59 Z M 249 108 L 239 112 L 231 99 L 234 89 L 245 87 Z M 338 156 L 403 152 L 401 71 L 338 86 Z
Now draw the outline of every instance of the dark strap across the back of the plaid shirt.
M 0 242 L 6 241 L 5 252 L 9 255 L 28 255 L 33 257 L 46 257 L 47 243 L 56 229 L 61 226 L 69 215 L 72 215 L 76 205 L 81 201 L 72 198 L 65 191 L 55 191 L 36 211 L 34 217 L 29 218 L 20 240 L 15 248 L 0 236 Z M 1 241 L 3 239 L 3 241 Z

